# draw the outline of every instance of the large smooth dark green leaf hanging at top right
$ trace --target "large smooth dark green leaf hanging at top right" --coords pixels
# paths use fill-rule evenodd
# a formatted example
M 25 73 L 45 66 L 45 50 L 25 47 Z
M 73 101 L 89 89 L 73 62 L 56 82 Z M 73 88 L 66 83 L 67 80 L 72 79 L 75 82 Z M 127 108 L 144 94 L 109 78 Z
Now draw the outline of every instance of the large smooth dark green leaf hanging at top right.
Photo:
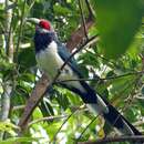
M 141 0 L 94 0 L 101 44 L 107 58 L 123 54 L 141 22 L 143 4 Z

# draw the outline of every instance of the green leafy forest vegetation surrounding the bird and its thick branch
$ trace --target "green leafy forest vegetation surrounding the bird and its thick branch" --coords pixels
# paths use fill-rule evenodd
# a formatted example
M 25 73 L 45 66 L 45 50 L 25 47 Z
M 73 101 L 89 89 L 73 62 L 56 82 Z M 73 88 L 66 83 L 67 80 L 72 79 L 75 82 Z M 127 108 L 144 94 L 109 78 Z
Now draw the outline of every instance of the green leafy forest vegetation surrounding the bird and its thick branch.
M 99 35 L 75 55 L 81 71 L 143 133 L 143 8 L 142 0 L 0 0 L 0 144 L 74 144 L 119 134 L 78 95 L 54 86 L 20 137 L 18 123 L 41 75 L 34 27 L 25 21 L 31 17 L 50 20 L 70 51 Z

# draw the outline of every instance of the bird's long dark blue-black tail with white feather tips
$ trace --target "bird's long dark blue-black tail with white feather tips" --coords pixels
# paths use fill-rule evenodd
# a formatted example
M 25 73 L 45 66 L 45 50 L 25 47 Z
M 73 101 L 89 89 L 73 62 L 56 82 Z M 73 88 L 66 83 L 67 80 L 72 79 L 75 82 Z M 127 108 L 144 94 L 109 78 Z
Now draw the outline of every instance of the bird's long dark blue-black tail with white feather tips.
M 101 114 L 106 122 L 116 127 L 122 134 L 142 135 L 138 130 L 136 130 L 123 115 L 121 115 L 113 105 L 91 89 L 88 83 L 80 83 L 86 90 L 86 93 L 73 88 L 71 88 L 71 91 L 78 93 L 90 110 L 96 114 Z

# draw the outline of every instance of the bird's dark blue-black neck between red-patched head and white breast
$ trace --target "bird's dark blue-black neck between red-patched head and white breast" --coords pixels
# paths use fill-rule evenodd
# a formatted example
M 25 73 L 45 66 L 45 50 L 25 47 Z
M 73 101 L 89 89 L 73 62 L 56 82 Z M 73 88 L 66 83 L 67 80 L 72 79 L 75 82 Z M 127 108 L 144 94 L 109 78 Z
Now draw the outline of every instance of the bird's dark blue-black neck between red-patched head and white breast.
M 55 41 L 54 32 L 44 32 L 44 33 L 35 32 L 34 35 L 35 53 L 49 48 L 49 44 L 52 41 Z

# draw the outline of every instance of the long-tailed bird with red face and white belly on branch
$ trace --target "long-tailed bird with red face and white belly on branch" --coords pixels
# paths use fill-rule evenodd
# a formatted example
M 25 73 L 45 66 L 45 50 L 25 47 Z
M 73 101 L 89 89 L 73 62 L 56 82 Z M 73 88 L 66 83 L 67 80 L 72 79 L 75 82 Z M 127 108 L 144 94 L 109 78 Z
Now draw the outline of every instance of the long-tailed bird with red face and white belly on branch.
M 65 45 L 59 41 L 50 21 L 38 18 L 28 18 L 27 21 L 35 24 L 34 49 L 38 66 L 52 82 L 71 54 Z M 121 134 L 142 135 L 105 97 L 102 97 L 85 81 L 79 81 L 80 79 L 83 79 L 83 74 L 76 60 L 72 58 L 60 72 L 56 84 L 79 95 L 90 111 L 94 114 L 101 114 Z

